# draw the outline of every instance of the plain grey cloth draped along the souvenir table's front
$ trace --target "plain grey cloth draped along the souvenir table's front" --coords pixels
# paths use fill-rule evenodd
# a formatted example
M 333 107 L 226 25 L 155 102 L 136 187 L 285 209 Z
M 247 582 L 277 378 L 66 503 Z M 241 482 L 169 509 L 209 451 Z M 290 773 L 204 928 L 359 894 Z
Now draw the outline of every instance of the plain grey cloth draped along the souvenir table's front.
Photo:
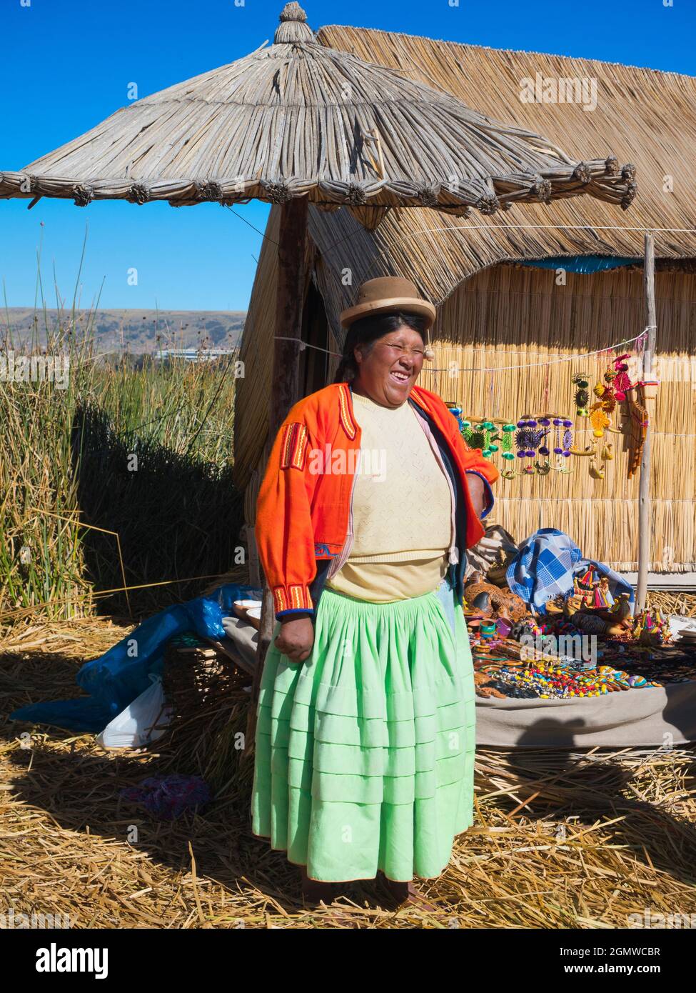
M 696 741 L 696 682 L 568 700 L 477 697 L 477 745 L 606 748 Z

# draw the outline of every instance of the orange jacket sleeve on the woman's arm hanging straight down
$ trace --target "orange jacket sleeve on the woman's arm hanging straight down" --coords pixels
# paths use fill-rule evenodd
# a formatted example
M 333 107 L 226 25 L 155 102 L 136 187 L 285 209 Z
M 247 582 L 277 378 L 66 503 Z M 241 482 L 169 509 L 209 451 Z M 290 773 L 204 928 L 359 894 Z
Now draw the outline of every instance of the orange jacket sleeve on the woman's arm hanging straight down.
M 291 410 L 276 436 L 256 502 L 256 545 L 278 619 L 314 611 L 311 506 L 318 475 L 308 470 L 313 447 L 307 424 Z

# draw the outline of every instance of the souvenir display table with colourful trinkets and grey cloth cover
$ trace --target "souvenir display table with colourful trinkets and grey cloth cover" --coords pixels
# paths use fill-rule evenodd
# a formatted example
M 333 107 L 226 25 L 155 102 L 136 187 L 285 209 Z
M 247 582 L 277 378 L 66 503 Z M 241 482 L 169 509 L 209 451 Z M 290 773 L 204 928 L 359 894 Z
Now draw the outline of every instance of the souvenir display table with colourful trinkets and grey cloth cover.
M 472 612 L 468 623 L 477 744 L 667 750 L 696 741 L 696 648 L 689 638 L 682 644 L 598 638 L 596 658 L 586 659 L 543 650 L 553 624 L 544 625 L 541 638 L 520 643 L 490 637 L 489 626 Z M 527 622 L 528 632 L 534 627 Z

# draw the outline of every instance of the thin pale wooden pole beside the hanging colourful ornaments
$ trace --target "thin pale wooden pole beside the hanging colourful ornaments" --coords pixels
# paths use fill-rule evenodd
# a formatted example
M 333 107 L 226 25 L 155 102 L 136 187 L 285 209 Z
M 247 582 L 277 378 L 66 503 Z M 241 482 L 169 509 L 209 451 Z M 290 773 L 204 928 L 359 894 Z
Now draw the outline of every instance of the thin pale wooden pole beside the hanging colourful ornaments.
M 645 235 L 645 256 L 643 262 L 643 286 L 645 289 L 645 325 L 647 327 L 647 342 L 643 351 L 642 378 L 652 378 L 652 356 L 655 351 L 655 245 L 652 234 Z M 643 398 L 645 408 L 647 401 Z M 652 404 L 650 404 L 652 406 Z M 652 548 L 652 507 L 650 504 L 650 421 L 652 410 L 649 411 L 645 440 L 642 445 L 640 459 L 640 478 L 638 482 L 638 575 L 635 589 L 635 613 L 645 609 L 647 599 L 647 569 Z

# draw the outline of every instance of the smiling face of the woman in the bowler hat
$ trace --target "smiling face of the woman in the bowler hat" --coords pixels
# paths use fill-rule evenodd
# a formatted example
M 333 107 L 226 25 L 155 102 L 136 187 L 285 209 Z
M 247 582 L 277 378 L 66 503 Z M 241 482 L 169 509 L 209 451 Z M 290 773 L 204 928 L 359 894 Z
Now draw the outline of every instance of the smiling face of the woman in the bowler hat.
M 382 335 L 371 347 L 358 345 L 353 388 L 383 407 L 400 407 L 420 375 L 424 353 L 421 336 L 404 324 Z

